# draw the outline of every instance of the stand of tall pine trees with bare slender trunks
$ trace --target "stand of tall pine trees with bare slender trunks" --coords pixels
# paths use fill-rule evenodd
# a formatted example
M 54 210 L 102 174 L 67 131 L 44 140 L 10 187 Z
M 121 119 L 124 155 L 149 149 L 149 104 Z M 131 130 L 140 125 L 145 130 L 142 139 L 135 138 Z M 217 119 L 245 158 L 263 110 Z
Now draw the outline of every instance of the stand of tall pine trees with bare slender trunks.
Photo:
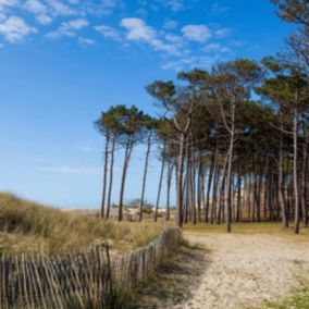
M 271 0 L 277 14 L 298 24 L 284 53 L 261 62 L 237 59 L 209 71 L 182 72 L 175 82 L 154 81 L 147 92 L 160 107 L 156 119 L 135 106 L 111 107 L 95 123 L 104 136 L 101 217 L 109 218 L 114 153 L 124 149 L 119 220 L 132 152 L 146 145 L 139 199 L 143 219 L 148 165 L 160 146 L 161 171 L 154 220 L 164 172 L 166 220 L 172 180 L 176 223 L 282 221 L 283 227 L 309 224 L 309 3 Z

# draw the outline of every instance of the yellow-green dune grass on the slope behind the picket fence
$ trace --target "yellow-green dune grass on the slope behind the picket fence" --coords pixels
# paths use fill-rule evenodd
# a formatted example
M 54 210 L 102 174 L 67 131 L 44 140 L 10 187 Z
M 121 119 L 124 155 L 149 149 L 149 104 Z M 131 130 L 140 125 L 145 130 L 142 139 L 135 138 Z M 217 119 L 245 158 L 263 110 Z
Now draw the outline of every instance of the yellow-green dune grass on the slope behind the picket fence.
M 122 254 L 148 244 L 162 230 L 160 223 L 103 221 L 0 193 L 0 252 L 53 255 L 108 242 L 113 254 Z

